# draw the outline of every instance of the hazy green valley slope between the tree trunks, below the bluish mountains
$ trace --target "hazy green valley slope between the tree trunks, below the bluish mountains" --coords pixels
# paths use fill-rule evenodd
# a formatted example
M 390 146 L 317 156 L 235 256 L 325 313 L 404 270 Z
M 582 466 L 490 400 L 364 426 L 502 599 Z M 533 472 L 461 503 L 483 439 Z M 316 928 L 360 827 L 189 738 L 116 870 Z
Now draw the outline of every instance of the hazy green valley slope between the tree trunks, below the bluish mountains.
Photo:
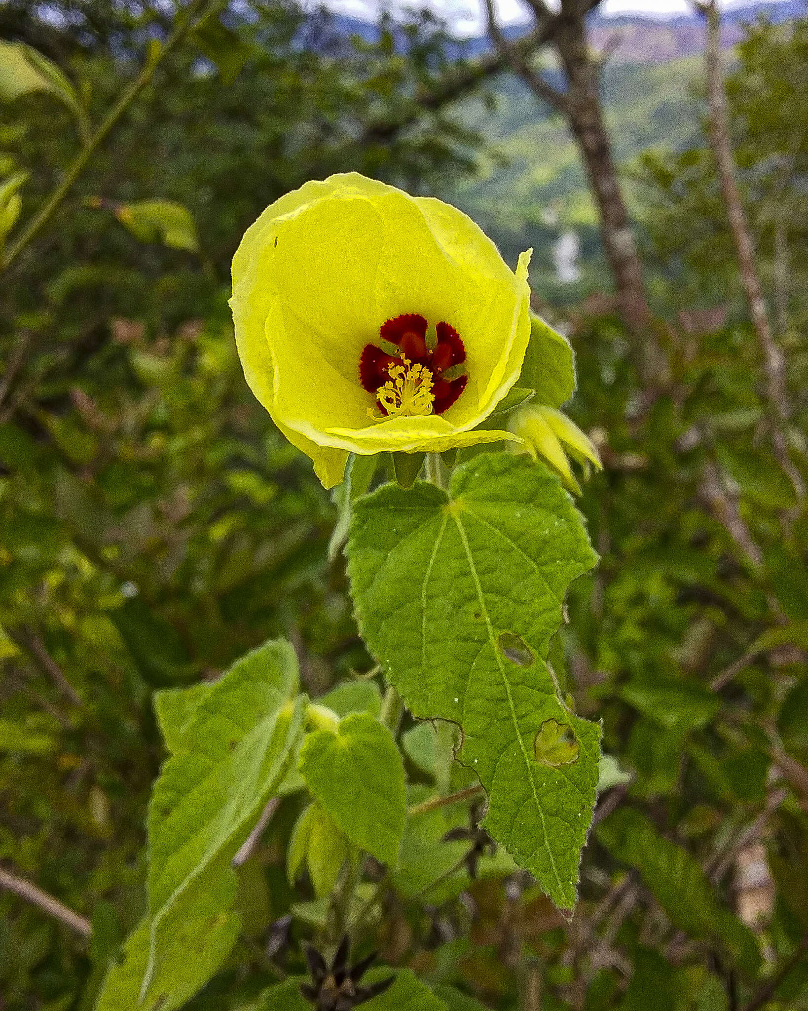
M 604 107 L 622 170 L 648 148 L 678 150 L 694 140 L 704 111 L 696 89 L 701 71 L 698 57 L 606 67 Z M 603 277 L 597 216 L 578 150 L 561 117 L 548 115 L 521 82 L 503 76 L 495 91 L 496 111 L 475 98 L 459 113 L 484 133 L 505 164 L 481 159 L 476 178 L 442 195 L 479 221 L 509 261 L 534 246 L 531 282 L 546 297 L 557 303 L 577 298 Z M 630 203 L 628 182 L 626 192 Z M 551 251 L 569 232 L 580 243 L 583 272 L 580 284 L 560 292 Z

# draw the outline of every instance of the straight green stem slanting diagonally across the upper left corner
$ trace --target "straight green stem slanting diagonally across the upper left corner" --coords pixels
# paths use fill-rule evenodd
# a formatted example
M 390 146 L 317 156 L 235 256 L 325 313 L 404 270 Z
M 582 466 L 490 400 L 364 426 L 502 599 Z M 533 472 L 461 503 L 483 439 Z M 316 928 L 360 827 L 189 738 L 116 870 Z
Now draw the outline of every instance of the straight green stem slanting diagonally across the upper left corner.
M 107 134 L 113 126 L 115 126 L 124 112 L 126 112 L 143 88 L 152 82 L 152 78 L 155 76 L 155 72 L 158 67 L 183 40 L 186 34 L 194 26 L 197 14 L 199 14 L 209 2 L 210 0 L 191 0 L 191 3 L 185 10 L 185 16 L 183 17 L 182 22 L 174 29 L 166 44 L 161 49 L 157 56 L 154 57 L 154 59 L 146 59 L 145 67 L 143 67 L 131 84 L 123 89 L 118 97 L 118 100 L 107 113 L 104 121 L 95 133 L 92 134 L 76 158 L 74 158 L 72 164 L 68 168 L 65 178 L 45 200 L 39 210 L 28 221 L 28 224 L 25 228 L 23 228 L 17 240 L 10 245 L 5 260 L 2 264 L 0 264 L 0 270 L 6 270 L 10 267 L 28 243 L 35 239 L 45 224 L 47 224 L 62 201 L 70 192 L 73 184 L 86 168 L 87 163 L 106 139 Z

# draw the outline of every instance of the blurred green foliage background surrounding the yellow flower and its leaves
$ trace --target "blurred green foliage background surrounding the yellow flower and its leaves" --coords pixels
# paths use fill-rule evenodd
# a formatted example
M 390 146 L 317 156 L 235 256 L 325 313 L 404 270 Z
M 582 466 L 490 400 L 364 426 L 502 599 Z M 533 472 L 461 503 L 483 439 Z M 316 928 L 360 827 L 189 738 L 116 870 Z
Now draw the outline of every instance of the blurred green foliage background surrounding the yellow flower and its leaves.
M 17 231 L 177 17 L 0 4 L 2 37 L 69 84 L 14 94 L 0 78 Z M 280 635 L 314 697 L 372 668 L 329 561 L 336 511 L 246 389 L 226 305 L 245 226 L 344 170 L 458 203 L 511 262 L 535 245 L 535 307 L 570 335 L 569 409 L 604 461 L 580 500 L 601 562 L 563 632 L 567 688 L 614 759 L 579 909 L 567 922 L 494 860 L 428 901 L 392 894 L 376 944 L 492 1009 L 808 1008 L 808 512 L 771 448 L 701 62 L 686 61 L 689 83 L 605 72 L 665 359 L 649 389 L 561 120 L 507 75 L 424 101 L 467 57 L 426 14 L 363 35 L 284 0 L 233 5 L 165 61 L 2 275 L 0 866 L 92 925 L 88 943 L 0 890 L 4 1011 L 92 1008 L 140 915 L 165 756 L 153 690 L 214 678 Z M 726 91 L 804 480 L 808 22 L 748 26 Z M 654 93 L 670 114 L 651 130 Z M 566 226 L 582 260 L 565 282 L 550 252 Z M 414 789 L 450 789 L 414 744 L 408 756 Z M 243 936 L 195 1008 L 241 1007 L 279 963 L 302 968 L 294 805 L 242 868 Z M 432 827 L 432 850 L 452 824 Z

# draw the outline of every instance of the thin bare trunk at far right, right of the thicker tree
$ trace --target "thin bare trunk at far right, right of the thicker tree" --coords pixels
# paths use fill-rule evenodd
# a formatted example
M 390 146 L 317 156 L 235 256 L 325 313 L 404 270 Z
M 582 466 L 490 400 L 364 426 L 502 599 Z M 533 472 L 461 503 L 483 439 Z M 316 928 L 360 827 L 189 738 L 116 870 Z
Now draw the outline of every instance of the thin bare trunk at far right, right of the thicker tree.
M 786 390 L 786 360 L 772 335 L 769 313 L 764 300 L 761 278 L 754 261 L 754 243 L 740 199 L 735 175 L 735 161 L 729 142 L 729 121 L 723 81 L 721 50 L 721 13 L 716 0 L 696 6 L 707 19 L 707 50 L 705 72 L 709 112 L 710 147 L 718 169 L 721 194 L 726 207 L 729 229 L 737 256 L 740 281 L 749 308 L 754 333 L 764 356 L 766 400 L 772 423 L 772 446 L 775 455 L 788 474 L 798 498 L 805 495 L 805 481 L 789 456 L 786 427 L 791 415 Z

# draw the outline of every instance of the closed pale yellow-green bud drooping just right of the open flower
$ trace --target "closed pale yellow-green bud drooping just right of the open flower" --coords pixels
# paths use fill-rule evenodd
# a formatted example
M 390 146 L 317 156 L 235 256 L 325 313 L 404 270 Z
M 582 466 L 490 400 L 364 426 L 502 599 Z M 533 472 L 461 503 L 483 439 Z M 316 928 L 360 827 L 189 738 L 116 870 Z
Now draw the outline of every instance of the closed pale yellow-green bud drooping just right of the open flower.
M 534 459 L 543 457 L 564 484 L 576 494 L 581 494 L 581 488 L 567 454 L 584 466 L 587 476 L 590 463 L 598 470 L 601 469 L 595 444 L 567 415 L 556 407 L 528 403 L 513 411 L 508 428 L 523 440 L 523 445 L 517 448 L 517 452 L 521 449 L 529 452 Z

